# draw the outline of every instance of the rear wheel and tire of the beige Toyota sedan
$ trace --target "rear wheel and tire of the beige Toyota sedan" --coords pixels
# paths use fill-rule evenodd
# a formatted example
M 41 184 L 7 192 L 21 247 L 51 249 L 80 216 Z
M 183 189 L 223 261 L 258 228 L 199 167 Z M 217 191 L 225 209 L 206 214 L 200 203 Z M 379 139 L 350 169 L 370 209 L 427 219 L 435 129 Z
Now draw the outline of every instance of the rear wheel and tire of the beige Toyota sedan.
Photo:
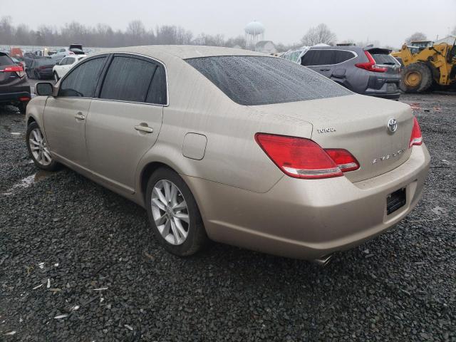
M 146 208 L 155 237 L 168 252 L 186 257 L 207 243 L 195 197 L 173 170 L 160 167 L 152 174 L 147 182 Z

